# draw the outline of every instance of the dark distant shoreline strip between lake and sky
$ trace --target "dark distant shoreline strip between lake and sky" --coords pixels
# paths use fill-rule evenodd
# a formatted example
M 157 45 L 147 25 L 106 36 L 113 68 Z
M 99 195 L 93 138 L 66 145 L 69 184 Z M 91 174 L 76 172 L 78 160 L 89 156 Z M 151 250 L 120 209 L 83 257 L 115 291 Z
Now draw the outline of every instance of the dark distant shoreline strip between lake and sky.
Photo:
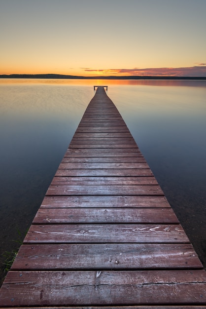
M 85 76 L 73 76 L 73 75 L 62 75 L 62 74 L 10 74 L 0 75 L 0 78 L 47 78 L 47 79 L 195 79 L 195 80 L 206 80 L 206 77 L 186 77 L 186 76 L 96 76 L 96 77 L 85 77 Z

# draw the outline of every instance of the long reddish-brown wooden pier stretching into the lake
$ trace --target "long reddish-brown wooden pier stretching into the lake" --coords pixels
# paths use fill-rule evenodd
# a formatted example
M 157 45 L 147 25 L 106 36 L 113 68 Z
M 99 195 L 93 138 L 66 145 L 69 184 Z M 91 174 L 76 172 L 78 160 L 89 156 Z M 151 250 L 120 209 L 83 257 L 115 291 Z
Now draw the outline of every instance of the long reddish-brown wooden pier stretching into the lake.
M 0 307 L 205 305 L 206 272 L 98 86 L 1 286 Z

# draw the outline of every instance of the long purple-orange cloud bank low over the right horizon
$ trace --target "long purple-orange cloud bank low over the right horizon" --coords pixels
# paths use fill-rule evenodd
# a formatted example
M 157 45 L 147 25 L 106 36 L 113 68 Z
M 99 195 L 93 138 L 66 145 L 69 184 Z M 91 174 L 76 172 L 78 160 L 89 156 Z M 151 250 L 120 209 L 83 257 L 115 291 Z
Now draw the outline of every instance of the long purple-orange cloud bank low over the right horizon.
M 134 69 L 106 69 L 93 70 L 85 69 L 86 72 L 93 72 L 104 76 L 177 76 L 177 77 L 206 77 L 206 64 L 198 64 L 186 68 L 134 68 Z

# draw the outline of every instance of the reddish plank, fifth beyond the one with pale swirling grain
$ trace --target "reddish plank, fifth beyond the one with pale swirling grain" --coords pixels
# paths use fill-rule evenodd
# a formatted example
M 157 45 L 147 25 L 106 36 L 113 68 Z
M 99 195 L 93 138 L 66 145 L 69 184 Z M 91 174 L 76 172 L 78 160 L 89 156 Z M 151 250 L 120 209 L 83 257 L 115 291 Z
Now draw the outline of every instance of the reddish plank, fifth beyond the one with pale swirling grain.
M 147 169 L 58 169 L 55 176 L 153 176 Z M 123 194 L 123 193 L 122 193 Z

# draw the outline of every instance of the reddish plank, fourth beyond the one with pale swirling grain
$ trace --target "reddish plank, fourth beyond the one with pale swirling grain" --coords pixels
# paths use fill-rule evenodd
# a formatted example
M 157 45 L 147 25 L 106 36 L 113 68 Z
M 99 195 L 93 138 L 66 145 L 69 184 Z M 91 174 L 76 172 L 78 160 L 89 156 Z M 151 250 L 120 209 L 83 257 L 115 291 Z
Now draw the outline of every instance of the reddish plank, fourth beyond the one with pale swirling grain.
M 58 177 L 51 182 L 53 186 L 60 185 L 158 185 L 154 176 L 144 177 Z

